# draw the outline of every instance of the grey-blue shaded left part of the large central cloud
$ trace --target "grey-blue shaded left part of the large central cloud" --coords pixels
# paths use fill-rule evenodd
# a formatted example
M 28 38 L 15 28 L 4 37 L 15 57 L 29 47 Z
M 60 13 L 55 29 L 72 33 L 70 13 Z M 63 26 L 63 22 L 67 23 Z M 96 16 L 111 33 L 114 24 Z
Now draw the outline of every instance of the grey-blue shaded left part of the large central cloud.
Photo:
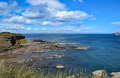
M 49 12 L 47 11 L 46 5 L 39 4 L 28 7 L 27 10 L 22 13 L 22 15 L 30 19 L 44 19 L 49 16 Z

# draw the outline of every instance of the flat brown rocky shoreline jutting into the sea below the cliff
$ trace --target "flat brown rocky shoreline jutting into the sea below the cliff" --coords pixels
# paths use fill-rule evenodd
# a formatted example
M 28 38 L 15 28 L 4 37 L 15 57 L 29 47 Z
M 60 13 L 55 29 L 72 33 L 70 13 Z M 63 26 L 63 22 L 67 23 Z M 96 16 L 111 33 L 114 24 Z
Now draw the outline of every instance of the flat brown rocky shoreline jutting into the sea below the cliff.
M 33 41 L 26 44 L 21 44 L 18 48 L 2 51 L 0 53 L 0 59 L 4 59 L 11 63 L 27 63 L 34 60 L 44 60 L 48 58 L 59 58 L 64 53 L 57 53 L 57 51 L 65 50 L 68 48 L 77 47 L 76 44 L 61 43 L 61 42 L 47 42 L 47 41 Z M 37 57 L 32 54 L 53 52 L 56 51 L 56 55 Z

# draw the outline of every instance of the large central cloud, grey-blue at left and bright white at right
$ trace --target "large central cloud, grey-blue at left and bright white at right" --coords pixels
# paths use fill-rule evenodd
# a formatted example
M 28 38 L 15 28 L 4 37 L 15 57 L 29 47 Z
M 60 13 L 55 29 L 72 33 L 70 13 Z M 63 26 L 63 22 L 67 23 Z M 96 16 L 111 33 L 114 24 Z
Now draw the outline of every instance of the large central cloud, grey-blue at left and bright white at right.
M 49 8 L 46 4 L 28 7 L 22 15 L 27 19 L 37 19 L 39 22 L 43 21 L 42 25 L 60 25 L 76 20 L 95 19 L 93 15 L 87 14 L 84 11 L 58 10 Z

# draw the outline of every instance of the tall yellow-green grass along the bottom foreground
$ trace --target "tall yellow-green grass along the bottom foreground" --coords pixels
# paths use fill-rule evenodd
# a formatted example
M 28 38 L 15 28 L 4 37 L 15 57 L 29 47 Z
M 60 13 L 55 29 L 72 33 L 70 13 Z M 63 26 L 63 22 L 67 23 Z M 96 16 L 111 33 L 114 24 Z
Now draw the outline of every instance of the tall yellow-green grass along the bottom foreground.
M 43 71 L 37 71 L 33 67 L 13 65 L 8 62 L 0 64 L 0 78 L 109 78 L 107 74 L 102 77 L 90 76 L 81 72 L 74 72 L 71 77 L 67 72 L 45 74 Z

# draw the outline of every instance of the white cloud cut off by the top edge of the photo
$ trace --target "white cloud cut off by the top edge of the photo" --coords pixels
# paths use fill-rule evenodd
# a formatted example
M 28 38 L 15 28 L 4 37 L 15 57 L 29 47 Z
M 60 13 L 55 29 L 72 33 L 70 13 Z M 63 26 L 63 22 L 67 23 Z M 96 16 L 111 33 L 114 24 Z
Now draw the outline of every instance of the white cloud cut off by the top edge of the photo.
M 50 8 L 64 9 L 65 4 L 59 0 L 26 0 L 31 5 L 47 4 Z

